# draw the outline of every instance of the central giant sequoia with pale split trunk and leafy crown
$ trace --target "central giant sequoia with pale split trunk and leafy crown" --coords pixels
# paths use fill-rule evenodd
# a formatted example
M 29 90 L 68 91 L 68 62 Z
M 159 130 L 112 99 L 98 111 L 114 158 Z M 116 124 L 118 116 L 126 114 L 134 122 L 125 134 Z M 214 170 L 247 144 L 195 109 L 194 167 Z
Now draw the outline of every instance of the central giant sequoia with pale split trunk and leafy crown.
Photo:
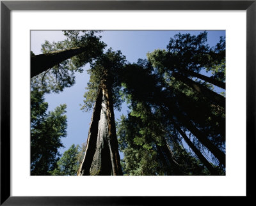
M 95 105 L 78 175 L 122 175 L 114 107 L 120 107 L 121 84 L 118 73 L 124 63 L 125 57 L 120 51 L 108 50 L 91 65 L 83 108 L 92 108 L 94 101 Z

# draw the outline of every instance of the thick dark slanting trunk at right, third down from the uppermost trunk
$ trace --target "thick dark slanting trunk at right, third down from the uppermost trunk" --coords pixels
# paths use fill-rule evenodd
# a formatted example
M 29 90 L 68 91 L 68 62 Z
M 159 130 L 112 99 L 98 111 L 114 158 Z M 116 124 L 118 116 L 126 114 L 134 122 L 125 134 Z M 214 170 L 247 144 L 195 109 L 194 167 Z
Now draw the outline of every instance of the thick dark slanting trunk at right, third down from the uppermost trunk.
M 225 153 L 222 152 L 218 147 L 216 147 L 208 138 L 207 135 L 202 133 L 193 123 L 188 119 L 188 117 L 174 111 L 174 115 L 177 117 L 184 127 L 186 127 L 196 138 L 207 148 L 212 154 L 220 161 L 221 164 L 225 166 Z

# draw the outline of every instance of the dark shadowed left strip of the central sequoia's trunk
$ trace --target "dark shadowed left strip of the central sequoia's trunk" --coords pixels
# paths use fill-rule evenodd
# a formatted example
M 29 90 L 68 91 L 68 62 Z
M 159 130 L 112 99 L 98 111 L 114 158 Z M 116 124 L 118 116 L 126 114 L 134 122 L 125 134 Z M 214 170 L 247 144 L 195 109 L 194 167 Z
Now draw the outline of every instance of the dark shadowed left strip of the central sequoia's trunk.
M 90 175 L 90 168 L 93 161 L 93 156 L 96 150 L 98 126 L 100 121 L 100 114 L 102 109 L 102 89 L 99 89 L 97 99 L 93 108 L 91 125 L 88 132 L 88 139 L 86 150 L 84 152 L 84 159 L 79 167 L 77 175 Z

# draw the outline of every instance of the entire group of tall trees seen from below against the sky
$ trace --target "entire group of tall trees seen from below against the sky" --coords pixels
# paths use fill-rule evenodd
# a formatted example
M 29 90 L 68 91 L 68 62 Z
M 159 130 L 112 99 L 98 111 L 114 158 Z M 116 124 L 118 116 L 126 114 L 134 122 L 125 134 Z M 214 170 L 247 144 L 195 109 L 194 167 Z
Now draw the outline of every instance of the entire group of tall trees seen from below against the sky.
M 31 51 L 31 175 L 225 175 L 225 36 L 209 46 L 207 31 L 177 33 L 130 63 L 104 31 L 63 34 L 43 54 Z M 60 154 L 76 122 L 65 104 L 47 112 L 44 96 L 65 92 L 84 70 L 88 136 Z

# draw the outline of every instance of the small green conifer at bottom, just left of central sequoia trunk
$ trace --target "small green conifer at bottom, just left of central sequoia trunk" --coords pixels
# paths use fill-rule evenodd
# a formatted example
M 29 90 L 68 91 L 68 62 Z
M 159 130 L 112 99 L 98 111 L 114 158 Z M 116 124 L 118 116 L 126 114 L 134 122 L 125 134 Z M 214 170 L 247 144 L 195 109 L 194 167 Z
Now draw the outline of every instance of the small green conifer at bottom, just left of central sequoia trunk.
M 79 169 L 79 153 L 81 147 L 72 144 L 71 147 L 63 153 L 58 160 L 57 167 L 51 172 L 51 175 L 76 175 Z

